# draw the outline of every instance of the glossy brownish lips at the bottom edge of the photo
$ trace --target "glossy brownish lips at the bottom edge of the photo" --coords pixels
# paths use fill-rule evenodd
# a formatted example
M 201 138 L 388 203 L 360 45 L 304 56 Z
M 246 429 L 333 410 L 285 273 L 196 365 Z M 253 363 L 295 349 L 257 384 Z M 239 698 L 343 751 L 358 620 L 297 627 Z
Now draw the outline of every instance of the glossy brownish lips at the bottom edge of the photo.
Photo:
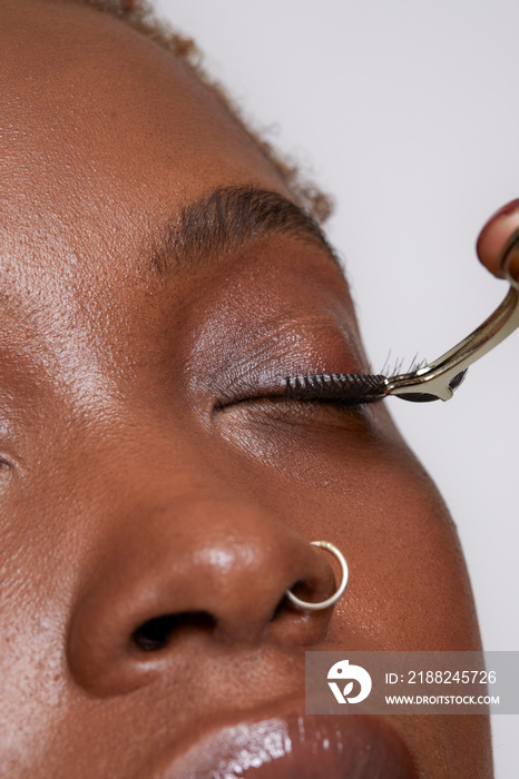
M 209 728 L 180 755 L 164 755 L 153 779 L 412 779 L 395 731 L 363 714 L 304 714 L 304 701 L 272 703 L 239 722 Z M 234 716 L 235 717 L 235 716 Z

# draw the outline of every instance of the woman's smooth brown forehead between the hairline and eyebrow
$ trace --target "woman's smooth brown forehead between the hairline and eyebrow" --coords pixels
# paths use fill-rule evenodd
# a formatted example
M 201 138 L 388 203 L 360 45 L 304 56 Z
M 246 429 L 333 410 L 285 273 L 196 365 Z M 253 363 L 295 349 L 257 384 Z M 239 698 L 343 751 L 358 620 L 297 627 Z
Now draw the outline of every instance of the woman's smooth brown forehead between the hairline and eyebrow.
M 26 266 L 112 241 L 128 254 L 177 204 L 216 187 L 288 195 L 170 52 L 81 3 L 3 0 L 1 10 L 2 244 Z

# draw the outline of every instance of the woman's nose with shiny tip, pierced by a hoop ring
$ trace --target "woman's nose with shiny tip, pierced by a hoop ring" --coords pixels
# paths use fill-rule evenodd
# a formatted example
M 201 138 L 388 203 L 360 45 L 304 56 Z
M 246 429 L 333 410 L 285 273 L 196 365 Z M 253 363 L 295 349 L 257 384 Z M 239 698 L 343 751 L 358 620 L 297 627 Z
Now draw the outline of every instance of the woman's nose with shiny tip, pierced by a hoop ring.
M 76 683 L 121 694 L 178 672 L 194 651 L 324 639 L 332 610 L 304 613 L 285 598 L 335 589 L 310 540 L 222 491 L 149 503 L 110 521 L 79 588 L 67 650 Z

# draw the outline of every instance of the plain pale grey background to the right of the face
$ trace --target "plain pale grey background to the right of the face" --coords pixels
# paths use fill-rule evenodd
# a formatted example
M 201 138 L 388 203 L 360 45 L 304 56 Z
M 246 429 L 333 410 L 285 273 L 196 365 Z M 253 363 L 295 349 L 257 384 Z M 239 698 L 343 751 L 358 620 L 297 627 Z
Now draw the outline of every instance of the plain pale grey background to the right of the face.
M 160 0 L 256 127 L 336 198 L 373 368 L 432 359 L 506 294 L 477 234 L 519 196 L 517 0 Z M 458 523 L 487 650 L 518 650 L 519 333 L 450 403 L 389 401 Z M 498 779 L 519 717 L 494 718 Z

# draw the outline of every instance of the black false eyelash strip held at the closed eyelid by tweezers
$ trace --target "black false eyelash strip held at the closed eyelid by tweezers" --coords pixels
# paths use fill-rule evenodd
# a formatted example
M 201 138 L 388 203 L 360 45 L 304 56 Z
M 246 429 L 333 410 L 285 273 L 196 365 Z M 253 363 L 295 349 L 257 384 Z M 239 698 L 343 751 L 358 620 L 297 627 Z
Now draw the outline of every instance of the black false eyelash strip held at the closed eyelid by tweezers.
M 322 373 L 287 376 L 283 397 L 298 401 L 326 400 L 370 403 L 385 395 L 386 377 L 362 373 Z

